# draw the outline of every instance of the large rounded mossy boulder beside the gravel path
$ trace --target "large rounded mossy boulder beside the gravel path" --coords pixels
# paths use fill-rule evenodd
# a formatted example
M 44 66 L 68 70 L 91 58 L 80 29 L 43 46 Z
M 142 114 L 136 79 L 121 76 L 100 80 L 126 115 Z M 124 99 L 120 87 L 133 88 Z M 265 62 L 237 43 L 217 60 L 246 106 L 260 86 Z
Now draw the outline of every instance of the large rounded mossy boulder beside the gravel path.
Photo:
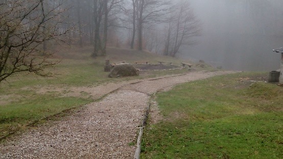
M 115 77 L 125 77 L 125 76 L 135 76 L 138 75 L 138 70 L 134 68 L 133 65 L 127 63 L 116 64 L 111 72 L 109 73 L 109 78 Z

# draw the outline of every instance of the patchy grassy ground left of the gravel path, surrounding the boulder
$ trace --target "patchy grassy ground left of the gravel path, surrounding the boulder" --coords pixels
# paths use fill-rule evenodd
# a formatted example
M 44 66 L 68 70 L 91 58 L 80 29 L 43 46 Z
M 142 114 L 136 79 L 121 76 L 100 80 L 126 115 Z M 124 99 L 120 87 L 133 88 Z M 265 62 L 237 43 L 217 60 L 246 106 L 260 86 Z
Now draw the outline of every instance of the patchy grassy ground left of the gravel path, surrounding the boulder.
M 108 78 L 108 72 L 103 71 L 105 58 L 110 58 L 111 62 L 127 61 L 130 63 L 148 60 L 151 63 L 170 61 L 180 64 L 180 60 L 156 56 L 144 51 L 117 48 L 108 48 L 108 57 L 91 59 L 89 58 L 91 52 L 92 47 L 62 49 L 56 53 L 56 56 L 62 61 L 51 70 L 57 74 L 54 77 L 44 78 L 33 74 L 19 73 L 7 79 L 9 84 L 1 83 L 0 100 L 7 102 L 0 105 L 0 138 L 14 130 L 25 128 L 28 123 L 33 121 L 93 101 L 83 93 L 80 97 L 63 97 L 64 93 L 68 91 L 68 87 L 97 86 L 103 83 L 186 71 L 149 71 L 139 77 Z M 49 86 L 61 88 L 64 91 L 56 92 L 51 89 L 47 93 L 37 93 L 39 88 Z

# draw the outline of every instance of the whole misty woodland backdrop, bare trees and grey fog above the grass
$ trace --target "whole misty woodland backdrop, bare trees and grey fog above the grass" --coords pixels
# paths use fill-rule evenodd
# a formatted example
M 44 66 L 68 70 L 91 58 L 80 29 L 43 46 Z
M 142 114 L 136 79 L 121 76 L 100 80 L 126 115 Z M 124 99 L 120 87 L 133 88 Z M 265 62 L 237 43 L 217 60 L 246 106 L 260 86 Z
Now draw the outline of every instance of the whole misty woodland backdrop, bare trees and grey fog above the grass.
M 48 76 L 43 69 L 56 64 L 48 46 L 59 44 L 93 46 L 92 58 L 114 46 L 275 69 L 282 7 L 279 0 L 1 0 L 0 82 L 21 71 Z

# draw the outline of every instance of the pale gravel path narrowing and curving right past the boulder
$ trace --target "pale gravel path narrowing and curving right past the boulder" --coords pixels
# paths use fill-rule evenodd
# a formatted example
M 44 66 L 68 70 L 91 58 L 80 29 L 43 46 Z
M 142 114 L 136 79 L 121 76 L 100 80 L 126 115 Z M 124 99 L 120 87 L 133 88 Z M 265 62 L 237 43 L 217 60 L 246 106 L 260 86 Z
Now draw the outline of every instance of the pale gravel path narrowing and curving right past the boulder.
M 0 158 L 133 158 L 135 146 L 129 143 L 136 139 L 150 94 L 227 73 L 234 72 L 191 72 L 99 86 L 94 89 L 97 98 L 114 92 L 60 121 L 9 138 L 0 144 Z

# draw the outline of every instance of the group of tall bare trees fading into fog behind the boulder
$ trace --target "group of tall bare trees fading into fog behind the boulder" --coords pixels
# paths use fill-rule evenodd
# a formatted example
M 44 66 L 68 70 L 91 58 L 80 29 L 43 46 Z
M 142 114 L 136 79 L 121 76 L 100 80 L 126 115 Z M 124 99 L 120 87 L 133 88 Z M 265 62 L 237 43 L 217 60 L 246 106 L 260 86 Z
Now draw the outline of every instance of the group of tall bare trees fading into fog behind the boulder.
M 118 30 L 128 34 L 126 45 L 132 49 L 173 57 L 181 45 L 193 44 L 191 38 L 200 35 L 199 21 L 186 0 L 71 0 L 67 5 L 72 6 L 69 20 L 77 23 L 72 36 L 80 46 L 93 45 L 92 57 L 105 56 L 109 43 L 121 45 Z

